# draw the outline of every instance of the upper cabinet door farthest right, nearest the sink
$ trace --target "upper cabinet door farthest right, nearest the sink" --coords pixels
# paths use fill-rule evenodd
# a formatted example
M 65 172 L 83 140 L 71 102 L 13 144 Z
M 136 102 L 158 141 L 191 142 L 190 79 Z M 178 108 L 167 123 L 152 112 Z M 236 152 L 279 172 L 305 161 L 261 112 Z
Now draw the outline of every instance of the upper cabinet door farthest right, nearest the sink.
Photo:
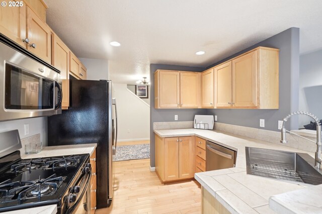
M 232 60 L 232 106 L 257 106 L 257 51 Z

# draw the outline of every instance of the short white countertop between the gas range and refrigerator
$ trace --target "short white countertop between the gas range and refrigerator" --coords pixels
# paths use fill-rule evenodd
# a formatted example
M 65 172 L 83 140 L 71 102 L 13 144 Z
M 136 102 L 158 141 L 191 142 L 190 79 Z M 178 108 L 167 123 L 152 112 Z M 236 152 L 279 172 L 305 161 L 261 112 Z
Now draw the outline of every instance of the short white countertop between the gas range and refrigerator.
M 96 143 L 92 144 L 75 144 L 63 146 L 44 146 L 42 150 L 36 154 L 21 154 L 22 159 L 53 157 L 61 155 L 77 155 L 90 154 L 92 155 L 97 147 Z

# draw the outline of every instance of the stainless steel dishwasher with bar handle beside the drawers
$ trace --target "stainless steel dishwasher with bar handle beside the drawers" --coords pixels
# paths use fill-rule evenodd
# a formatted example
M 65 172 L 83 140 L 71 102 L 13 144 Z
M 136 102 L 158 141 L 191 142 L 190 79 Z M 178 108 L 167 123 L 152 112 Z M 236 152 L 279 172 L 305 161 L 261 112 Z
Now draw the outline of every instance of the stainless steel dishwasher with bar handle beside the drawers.
M 206 171 L 235 166 L 237 152 L 216 143 L 206 142 Z

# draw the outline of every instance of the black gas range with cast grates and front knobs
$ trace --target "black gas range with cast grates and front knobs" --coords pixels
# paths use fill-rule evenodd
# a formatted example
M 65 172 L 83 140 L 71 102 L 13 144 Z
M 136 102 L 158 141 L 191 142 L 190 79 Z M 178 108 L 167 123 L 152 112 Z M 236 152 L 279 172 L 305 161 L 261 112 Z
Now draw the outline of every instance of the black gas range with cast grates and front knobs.
M 75 213 L 79 207 L 89 213 L 89 162 L 89 154 L 21 159 L 15 151 L 1 157 L 0 212 L 57 204 L 57 213 Z

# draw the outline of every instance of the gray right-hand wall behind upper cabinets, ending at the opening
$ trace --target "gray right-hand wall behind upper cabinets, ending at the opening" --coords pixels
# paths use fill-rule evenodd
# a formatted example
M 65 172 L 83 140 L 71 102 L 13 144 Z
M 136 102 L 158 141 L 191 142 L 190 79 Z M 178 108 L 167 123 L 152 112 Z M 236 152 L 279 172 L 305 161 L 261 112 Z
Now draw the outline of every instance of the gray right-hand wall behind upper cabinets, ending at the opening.
M 252 50 L 258 46 L 280 49 L 279 53 L 279 109 L 278 110 L 207 110 L 209 115 L 217 115 L 217 122 L 259 127 L 259 120 L 265 119 L 266 130 L 278 131 L 278 121 L 282 120 L 290 112 L 298 110 L 299 87 L 299 29 L 290 28 L 271 38 L 268 38 L 252 47 L 240 51 L 231 57 L 225 58 L 211 68 L 235 56 Z M 287 130 L 298 128 L 298 116 L 294 116 L 286 123 Z

